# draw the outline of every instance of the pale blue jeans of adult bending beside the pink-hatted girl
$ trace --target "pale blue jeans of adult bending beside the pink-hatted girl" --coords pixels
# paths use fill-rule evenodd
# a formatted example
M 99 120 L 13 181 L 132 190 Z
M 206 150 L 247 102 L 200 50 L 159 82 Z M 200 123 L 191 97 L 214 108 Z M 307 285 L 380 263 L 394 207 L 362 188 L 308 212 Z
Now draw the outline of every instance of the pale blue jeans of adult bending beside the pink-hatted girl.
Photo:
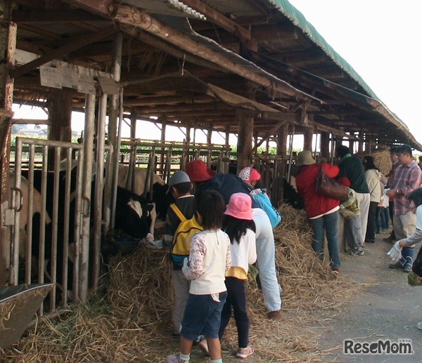
M 274 232 L 267 213 L 254 214 L 257 241 L 257 265 L 265 307 L 268 311 L 281 309 L 281 287 L 276 272 Z

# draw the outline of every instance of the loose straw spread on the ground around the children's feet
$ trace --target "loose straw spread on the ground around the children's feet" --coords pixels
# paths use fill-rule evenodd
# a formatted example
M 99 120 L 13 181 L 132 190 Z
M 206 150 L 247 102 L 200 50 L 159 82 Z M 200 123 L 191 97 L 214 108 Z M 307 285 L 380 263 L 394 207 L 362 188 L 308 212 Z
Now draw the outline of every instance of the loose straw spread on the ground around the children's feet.
M 311 232 L 305 214 L 281 208 L 283 223 L 274 231 L 279 282 L 283 288 L 283 318 L 265 315 L 262 291 L 252 268 L 248 283 L 250 341 L 255 354 L 248 362 L 324 362 L 330 352 L 318 347 L 317 329 L 350 301 L 357 287 L 335 278 L 310 248 Z M 335 298 L 334 298 L 335 297 Z M 108 294 L 75 307 L 56 319 L 44 319 L 29 329 L 20 343 L 4 351 L 13 362 L 165 362 L 179 352 L 170 336 L 171 267 L 166 251 L 141 246 L 110 265 Z M 324 315 L 326 312 L 326 315 Z M 323 316 L 328 318 L 324 319 Z M 222 341 L 224 362 L 233 355 L 237 334 L 233 322 Z M 194 348 L 191 362 L 209 362 Z

